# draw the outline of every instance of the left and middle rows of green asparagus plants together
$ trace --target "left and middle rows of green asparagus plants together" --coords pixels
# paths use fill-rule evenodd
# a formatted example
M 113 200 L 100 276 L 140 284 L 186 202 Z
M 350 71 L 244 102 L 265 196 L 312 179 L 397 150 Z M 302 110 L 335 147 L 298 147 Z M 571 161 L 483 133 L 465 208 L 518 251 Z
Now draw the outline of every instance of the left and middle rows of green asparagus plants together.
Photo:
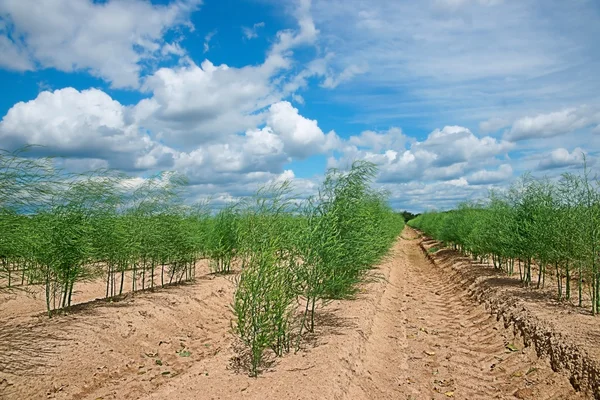
M 238 267 L 232 326 L 254 376 L 267 349 L 283 356 L 314 332 L 317 306 L 356 293 L 404 223 L 371 188 L 367 162 L 331 170 L 305 201 L 282 182 L 216 214 L 185 204 L 175 174 L 140 181 L 53 166 L 0 153 L 0 290 L 43 285 L 52 317 L 82 282 L 104 279 L 111 299 L 126 281 L 129 292 L 192 281 L 202 259 L 217 274 Z

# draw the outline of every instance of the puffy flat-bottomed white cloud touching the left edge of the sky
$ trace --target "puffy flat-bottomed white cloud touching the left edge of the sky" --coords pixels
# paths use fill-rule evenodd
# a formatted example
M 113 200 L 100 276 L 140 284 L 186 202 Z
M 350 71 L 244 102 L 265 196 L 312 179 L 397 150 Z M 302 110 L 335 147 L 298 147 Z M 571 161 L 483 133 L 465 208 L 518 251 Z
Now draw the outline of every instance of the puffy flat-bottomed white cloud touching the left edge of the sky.
M 36 144 L 44 146 L 42 152 L 104 159 L 121 169 L 172 165 L 174 152 L 131 124 L 128 113 L 97 89 L 42 92 L 8 111 L 0 122 L 0 139 L 11 147 Z

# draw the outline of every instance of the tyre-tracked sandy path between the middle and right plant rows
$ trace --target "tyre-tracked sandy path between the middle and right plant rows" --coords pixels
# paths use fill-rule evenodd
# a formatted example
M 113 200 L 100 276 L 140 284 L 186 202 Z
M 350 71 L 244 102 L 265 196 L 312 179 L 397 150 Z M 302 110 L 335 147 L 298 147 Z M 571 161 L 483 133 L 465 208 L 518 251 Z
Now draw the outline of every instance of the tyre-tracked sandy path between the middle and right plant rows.
M 404 235 L 346 399 L 583 398 Z

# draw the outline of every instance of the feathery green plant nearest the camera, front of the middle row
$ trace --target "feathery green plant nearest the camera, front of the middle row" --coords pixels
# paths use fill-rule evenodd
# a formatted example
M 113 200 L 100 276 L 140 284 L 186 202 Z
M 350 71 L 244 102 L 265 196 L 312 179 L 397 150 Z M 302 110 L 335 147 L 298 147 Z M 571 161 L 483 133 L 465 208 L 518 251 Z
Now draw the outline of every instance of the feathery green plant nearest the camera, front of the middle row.
M 285 234 L 289 185 L 263 189 L 241 205 L 239 251 L 244 269 L 235 292 L 234 331 L 250 350 L 256 376 L 266 348 L 289 351 L 295 300 L 294 248 Z

